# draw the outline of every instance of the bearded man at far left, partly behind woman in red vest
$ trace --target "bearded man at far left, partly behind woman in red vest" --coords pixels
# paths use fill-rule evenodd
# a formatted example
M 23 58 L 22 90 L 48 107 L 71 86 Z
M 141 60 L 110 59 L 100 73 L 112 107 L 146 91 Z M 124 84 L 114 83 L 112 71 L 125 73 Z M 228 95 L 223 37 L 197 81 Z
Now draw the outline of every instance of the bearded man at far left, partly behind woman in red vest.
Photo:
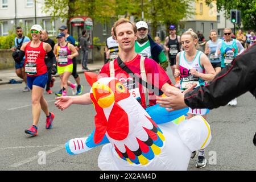
M 20 47 L 22 46 L 22 44 L 24 44 L 25 42 L 30 42 L 30 38 L 28 38 L 27 36 L 23 36 L 23 30 L 22 27 L 16 27 L 16 34 L 18 36 L 16 36 L 16 38 L 14 39 L 14 47 L 11 48 L 12 51 L 16 51 L 19 52 L 20 51 Z M 23 57 L 22 61 L 20 63 L 16 63 L 15 62 L 15 72 L 16 75 L 20 78 L 22 78 L 22 80 L 25 82 L 26 86 L 23 89 L 23 92 L 29 92 L 30 89 L 27 86 L 27 77 L 25 74 L 25 69 L 24 69 L 24 60 L 25 60 L 25 56 Z

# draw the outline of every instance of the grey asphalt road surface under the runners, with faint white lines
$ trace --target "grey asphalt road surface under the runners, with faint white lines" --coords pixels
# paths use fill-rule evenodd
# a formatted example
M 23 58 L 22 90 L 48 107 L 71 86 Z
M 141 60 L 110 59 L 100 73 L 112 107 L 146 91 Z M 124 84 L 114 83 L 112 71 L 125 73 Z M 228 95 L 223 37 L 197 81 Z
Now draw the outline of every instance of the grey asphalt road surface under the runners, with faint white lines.
M 83 93 L 89 92 L 84 75 L 80 76 Z M 46 117 L 42 112 L 38 136 L 29 137 L 24 130 L 32 124 L 31 93 L 23 93 L 23 87 L 24 84 L 0 85 L 0 171 L 100 170 L 97 158 L 101 147 L 80 155 L 68 155 L 64 148 L 69 139 L 92 132 L 93 106 L 72 105 L 60 111 L 54 105 L 55 95 L 45 93 L 49 110 L 55 114 L 53 128 L 45 129 Z M 59 78 L 52 90 L 59 91 Z M 71 90 L 68 93 L 71 94 Z M 256 131 L 256 100 L 246 93 L 237 101 L 237 107 L 224 106 L 210 111 L 212 141 L 205 155 L 210 164 L 198 169 L 196 158 L 191 159 L 188 170 L 256 170 L 256 147 L 252 142 Z

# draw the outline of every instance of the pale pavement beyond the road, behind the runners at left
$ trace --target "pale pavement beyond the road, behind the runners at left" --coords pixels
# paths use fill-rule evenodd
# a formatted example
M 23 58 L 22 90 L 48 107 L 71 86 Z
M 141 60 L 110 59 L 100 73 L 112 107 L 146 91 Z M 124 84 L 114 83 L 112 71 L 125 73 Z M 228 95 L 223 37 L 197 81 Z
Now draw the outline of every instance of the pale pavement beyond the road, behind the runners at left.
M 89 68 L 90 72 L 95 72 L 95 71 L 100 71 L 103 65 L 104 65 L 103 60 L 93 61 L 93 63 L 89 63 L 87 67 Z M 82 70 L 82 65 L 77 64 L 77 73 L 82 73 L 82 72 L 84 72 L 84 70 Z M 59 75 L 56 74 L 55 77 L 59 77 Z M 9 84 L 9 81 L 11 79 L 14 79 L 16 81 L 23 81 L 21 78 L 16 76 L 15 68 L 0 70 L 0 85 Z

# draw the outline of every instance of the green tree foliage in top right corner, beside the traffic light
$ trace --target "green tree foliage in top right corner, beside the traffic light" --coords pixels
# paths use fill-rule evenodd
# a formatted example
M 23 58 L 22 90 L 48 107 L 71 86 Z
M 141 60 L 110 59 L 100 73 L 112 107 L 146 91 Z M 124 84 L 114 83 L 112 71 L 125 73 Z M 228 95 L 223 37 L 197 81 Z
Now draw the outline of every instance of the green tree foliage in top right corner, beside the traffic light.
M 205 0 L 208 4 L 212 0 Z M 241 11 L 242 24 L 245 30 L 256 29 L 256 0 L 217 0 L 217 10 L 225 10 L 225 17 L 230 18 L 230 10 Z

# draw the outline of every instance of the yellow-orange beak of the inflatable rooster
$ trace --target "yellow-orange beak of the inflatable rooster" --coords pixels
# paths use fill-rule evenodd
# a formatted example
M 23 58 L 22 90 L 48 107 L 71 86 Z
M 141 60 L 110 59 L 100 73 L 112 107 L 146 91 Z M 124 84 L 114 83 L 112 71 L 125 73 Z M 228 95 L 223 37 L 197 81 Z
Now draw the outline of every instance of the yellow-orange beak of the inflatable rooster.
M 101 84 L 100 82 L 94 82 L 92 92 L 100 107 L 106 108 L 113 104 L 114 93 L 109 86 Z

